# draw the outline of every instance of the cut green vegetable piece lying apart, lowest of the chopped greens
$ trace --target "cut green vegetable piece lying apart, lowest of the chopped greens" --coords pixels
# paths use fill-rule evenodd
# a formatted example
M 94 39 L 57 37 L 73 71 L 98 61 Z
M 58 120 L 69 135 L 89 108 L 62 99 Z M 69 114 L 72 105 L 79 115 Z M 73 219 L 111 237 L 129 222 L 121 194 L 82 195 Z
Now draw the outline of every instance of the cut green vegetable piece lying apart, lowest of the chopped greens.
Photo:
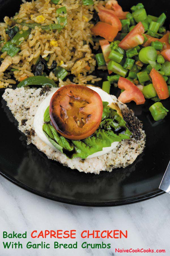
M 149 111 L 155 121 L 163 119 L 169 110 L 167 110 L 161 102 L 156 102 L 150 106 Z

